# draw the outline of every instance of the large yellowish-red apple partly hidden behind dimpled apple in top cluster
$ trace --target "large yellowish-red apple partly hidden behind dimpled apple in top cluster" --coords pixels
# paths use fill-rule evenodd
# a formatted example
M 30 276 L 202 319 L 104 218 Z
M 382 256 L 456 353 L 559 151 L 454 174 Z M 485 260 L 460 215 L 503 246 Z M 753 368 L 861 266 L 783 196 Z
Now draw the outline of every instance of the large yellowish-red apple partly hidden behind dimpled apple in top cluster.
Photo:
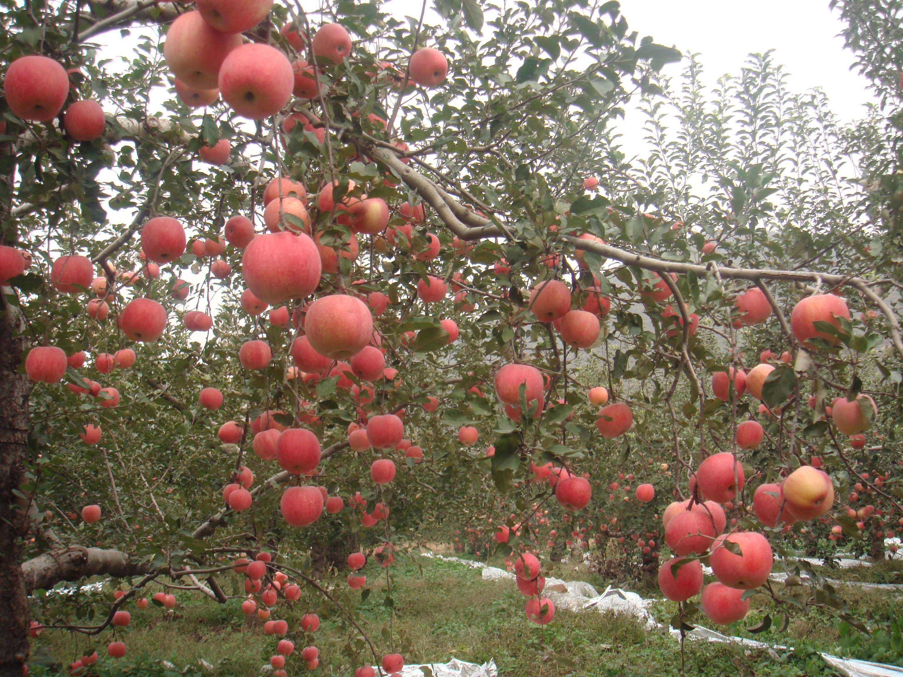
M 241 42 L 240 34 L 219 32 L 204 21 L 200 12 L 186 12 L 166 32 L 163 59 L 172 74 L 188 87 L 213 89 L 223 62 Z

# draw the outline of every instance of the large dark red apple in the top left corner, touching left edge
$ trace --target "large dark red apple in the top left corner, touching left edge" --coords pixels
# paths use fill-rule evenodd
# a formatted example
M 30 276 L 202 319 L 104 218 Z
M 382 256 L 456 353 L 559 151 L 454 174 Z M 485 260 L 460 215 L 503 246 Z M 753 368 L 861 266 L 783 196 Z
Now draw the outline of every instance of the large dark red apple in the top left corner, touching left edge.
M 23 120 L 50 122 L 69 96 L 69 76 L 58 61 L 32 54 L 19 57 L 3 80 L 6 105 Z

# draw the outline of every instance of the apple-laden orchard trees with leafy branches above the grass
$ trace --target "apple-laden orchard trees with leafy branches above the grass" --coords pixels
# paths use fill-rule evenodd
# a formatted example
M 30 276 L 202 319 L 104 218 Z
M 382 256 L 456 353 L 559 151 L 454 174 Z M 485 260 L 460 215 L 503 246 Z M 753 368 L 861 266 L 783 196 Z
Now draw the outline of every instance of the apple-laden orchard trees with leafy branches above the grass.
M 122 658 L 174 589 L 241 598 L 277 676 L 393 674 L 431 657 L 358 601 L 452 527 L 539 625 L 564 541 L 640 552 L 682 631 L 758 592 L 868 632 L 769 576 L 903 524 L 892 111 L 769 54 L 667 79 L 617 2 L 0 6 L 0 674 Z

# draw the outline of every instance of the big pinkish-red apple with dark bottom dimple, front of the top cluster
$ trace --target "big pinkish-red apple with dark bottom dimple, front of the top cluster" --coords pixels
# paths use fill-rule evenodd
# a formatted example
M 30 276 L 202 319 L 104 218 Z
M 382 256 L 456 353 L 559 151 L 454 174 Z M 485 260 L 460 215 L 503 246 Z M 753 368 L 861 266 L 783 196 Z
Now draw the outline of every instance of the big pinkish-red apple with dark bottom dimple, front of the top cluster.
M 275 116 L 292 97 L 293 87 L 292 64 L 283 52 L 261 42 L 230 51 L 219 69 L 223 100 L 251 120 Z

